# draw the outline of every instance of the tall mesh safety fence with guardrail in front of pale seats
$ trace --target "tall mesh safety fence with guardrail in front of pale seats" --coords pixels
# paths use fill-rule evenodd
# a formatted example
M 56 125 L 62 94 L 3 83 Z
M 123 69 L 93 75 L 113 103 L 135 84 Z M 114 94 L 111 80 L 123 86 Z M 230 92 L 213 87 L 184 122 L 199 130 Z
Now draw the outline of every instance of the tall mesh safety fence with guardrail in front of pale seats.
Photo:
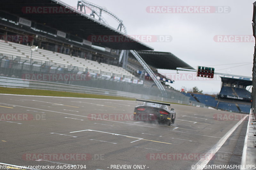
M 10 87 L 22 87 L 20 85 L 24 85 L 26 88 L 38 88 L 38 89 L 46 89 L 45 85 L 38 86 L 35 84 L 36 82 L 44 82 L 44 83 L 57 83 L 58 85 L 70 85 L 68 91 L 73 91 L 73 85 L 79 86 L 79 88 L 95 88 L 101 89 L 100 94 L 105 95 L 117 95 L 123 97 L 134 97 L 134 98 L 142 98 L 142 99 L 150 99 L 150 100 L 165 100 L 169 102 L 175 102 L 180 104 L 191 104 L 192 106 L 200 106 L 204 107 L 205 105 L 202 103 L 189 103 L 189 97 L 183 95 L 182 93 L 175 90 L 166 90 L 164 93 L 156 87 L 145 87 L 140 84 L 133 84 L 124 82 L 125 79 L 115 79 L 114 76 L 105 76 L 101 74 L 91 73 L 86 70 L 85 72 L 79 71 L 76 67 L 73 66 L 65 66 L 61 65 L 51 65 L 52 63 L 43 62 L 43 61 L 34 61 L 33 65 L 30 65 L 29 61 L 26 58 L 16 57 L 12 55 L 0 55 L 0 76 L 5 77 L 4 80 L 2 78 L 1 86 L 10 86 Z M 46 75 L 60 75 L 60 74 L 79 74 L 84 75 L 86 80 L 52 80 L 46 79 L 44 81 L 40 79 L 28 79 L 26 75 L 38 75 L 38 74 L 46 74 Z M 104 74 L 104 73 L 102 73 Z M 42 76 L 42 75 L 41 75 Z M 7 78 L 18 78 L 15 81 L 20 81 L 18 84 L 13 84 L 10 82 L 10 79 L 7 81 Z M 24 83 L 26 82 L 26 83 Z M 28 83 L 29 82 L 29 83 Z M 7 83 L 7 84 L 6 84 Z M 49 90 L 64 90 L 60 87 L 56 88 L 48 88 Z M 115 93 L 111 93 L 115 91 Z M 82 91 L 73 91 L 73 92 L 82 92 Z M 90 92 L 90 91 L 83 91 Z M 99 93 L 99 90 L 93 91 L 95 94 Z M 129 94 L 129 95 L 128 95 Z

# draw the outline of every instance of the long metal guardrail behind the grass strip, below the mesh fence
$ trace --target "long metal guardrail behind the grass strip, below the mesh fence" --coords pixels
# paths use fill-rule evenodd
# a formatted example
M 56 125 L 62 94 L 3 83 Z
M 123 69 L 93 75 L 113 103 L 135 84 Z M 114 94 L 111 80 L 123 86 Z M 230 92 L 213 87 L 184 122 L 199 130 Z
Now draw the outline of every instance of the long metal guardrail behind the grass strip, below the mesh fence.
M 10 78 L 10 77 L 2 77 L 2 76 L 0 76 L 0 86 L 12 87 L 12 88 L 29 88 L 29 89 L 99 94 L 99 95 L 120 96 L 120 97 L 129 97 L 129 98 L 140 98 L 145 100 L 157 100 L 157 101 L 165 101 L 170 103 L 179 103 L 179 104 L 187 104 L 187 105 L 189 104 L 189 101 L 175 100 L 170 98 L 163 98 L 163 97 L 144 95 L 144 94 L 138 94 L 138 93 L 107 90 L 107 89 L 86 87 L 86 86 L 79 86 L 79 85 L 69 85 L 69 84 L 62 84 L 62 83 L 55 83 L 55 82 L 33 81 L 33 80 L 25 80 L 21 78 Z M 191 102 L 190 105 L 197 106 L 197 107 L 205 107 L 204 104 L 198 103 L 198 102 Z

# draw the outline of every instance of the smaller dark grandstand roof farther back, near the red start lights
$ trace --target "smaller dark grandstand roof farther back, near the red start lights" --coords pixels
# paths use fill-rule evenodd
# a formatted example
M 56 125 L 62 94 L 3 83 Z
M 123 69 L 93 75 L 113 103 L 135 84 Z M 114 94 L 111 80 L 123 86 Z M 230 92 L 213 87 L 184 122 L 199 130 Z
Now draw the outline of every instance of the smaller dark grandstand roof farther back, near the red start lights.
M 177 67 L 183 67 L 195 70 L 193 67 L 169 52 L 138 51 L 138 53 L 148 65 L 156 67 L 157 69 L 176 70 Z

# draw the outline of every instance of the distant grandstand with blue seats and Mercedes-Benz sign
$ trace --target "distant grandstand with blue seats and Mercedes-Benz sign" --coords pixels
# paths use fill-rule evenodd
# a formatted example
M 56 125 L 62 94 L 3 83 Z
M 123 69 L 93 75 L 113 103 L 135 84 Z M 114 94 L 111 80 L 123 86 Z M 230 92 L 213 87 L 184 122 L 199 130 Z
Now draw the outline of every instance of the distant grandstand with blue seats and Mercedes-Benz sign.
M 237 113 L 250 113 L 251 92 L 246 90 L 252 81 L 245 78 L 227 78 L 221 77 L 222 88 L 220 93 L 213 97 L 211 95 L 182 92 L 190 97 L 190 101 L 197 101 L 206 106 L 220 110 Z

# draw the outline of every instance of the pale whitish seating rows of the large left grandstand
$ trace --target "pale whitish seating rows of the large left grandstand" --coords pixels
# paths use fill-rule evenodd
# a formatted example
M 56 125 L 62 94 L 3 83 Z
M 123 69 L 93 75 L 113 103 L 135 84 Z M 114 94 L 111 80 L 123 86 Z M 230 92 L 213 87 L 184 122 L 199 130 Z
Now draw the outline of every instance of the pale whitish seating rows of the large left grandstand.
M 0 49 L 3 54 L 26 57 L 28 60 L 30 59 L 30 46 L 8 41 L 0 42 Z M 122 67 L 109 65 L 106 63 L 98 63 L 92 60 L 85 60 L 84 58 L 73 57 L 70 55 L 52 52 L 41 48 L 38 48 L 37 51 L 34 51 L 32 53 L 32 59 L 47 61 L 62 66 L 72 65 L 81 68 L 81 70 L 88 69 L 89 72 L 93 73 L 100 73 L 101 71 L 118 76 L 125 76 L 130 78 L 134 77 L 129 71 L 123 69 Z

